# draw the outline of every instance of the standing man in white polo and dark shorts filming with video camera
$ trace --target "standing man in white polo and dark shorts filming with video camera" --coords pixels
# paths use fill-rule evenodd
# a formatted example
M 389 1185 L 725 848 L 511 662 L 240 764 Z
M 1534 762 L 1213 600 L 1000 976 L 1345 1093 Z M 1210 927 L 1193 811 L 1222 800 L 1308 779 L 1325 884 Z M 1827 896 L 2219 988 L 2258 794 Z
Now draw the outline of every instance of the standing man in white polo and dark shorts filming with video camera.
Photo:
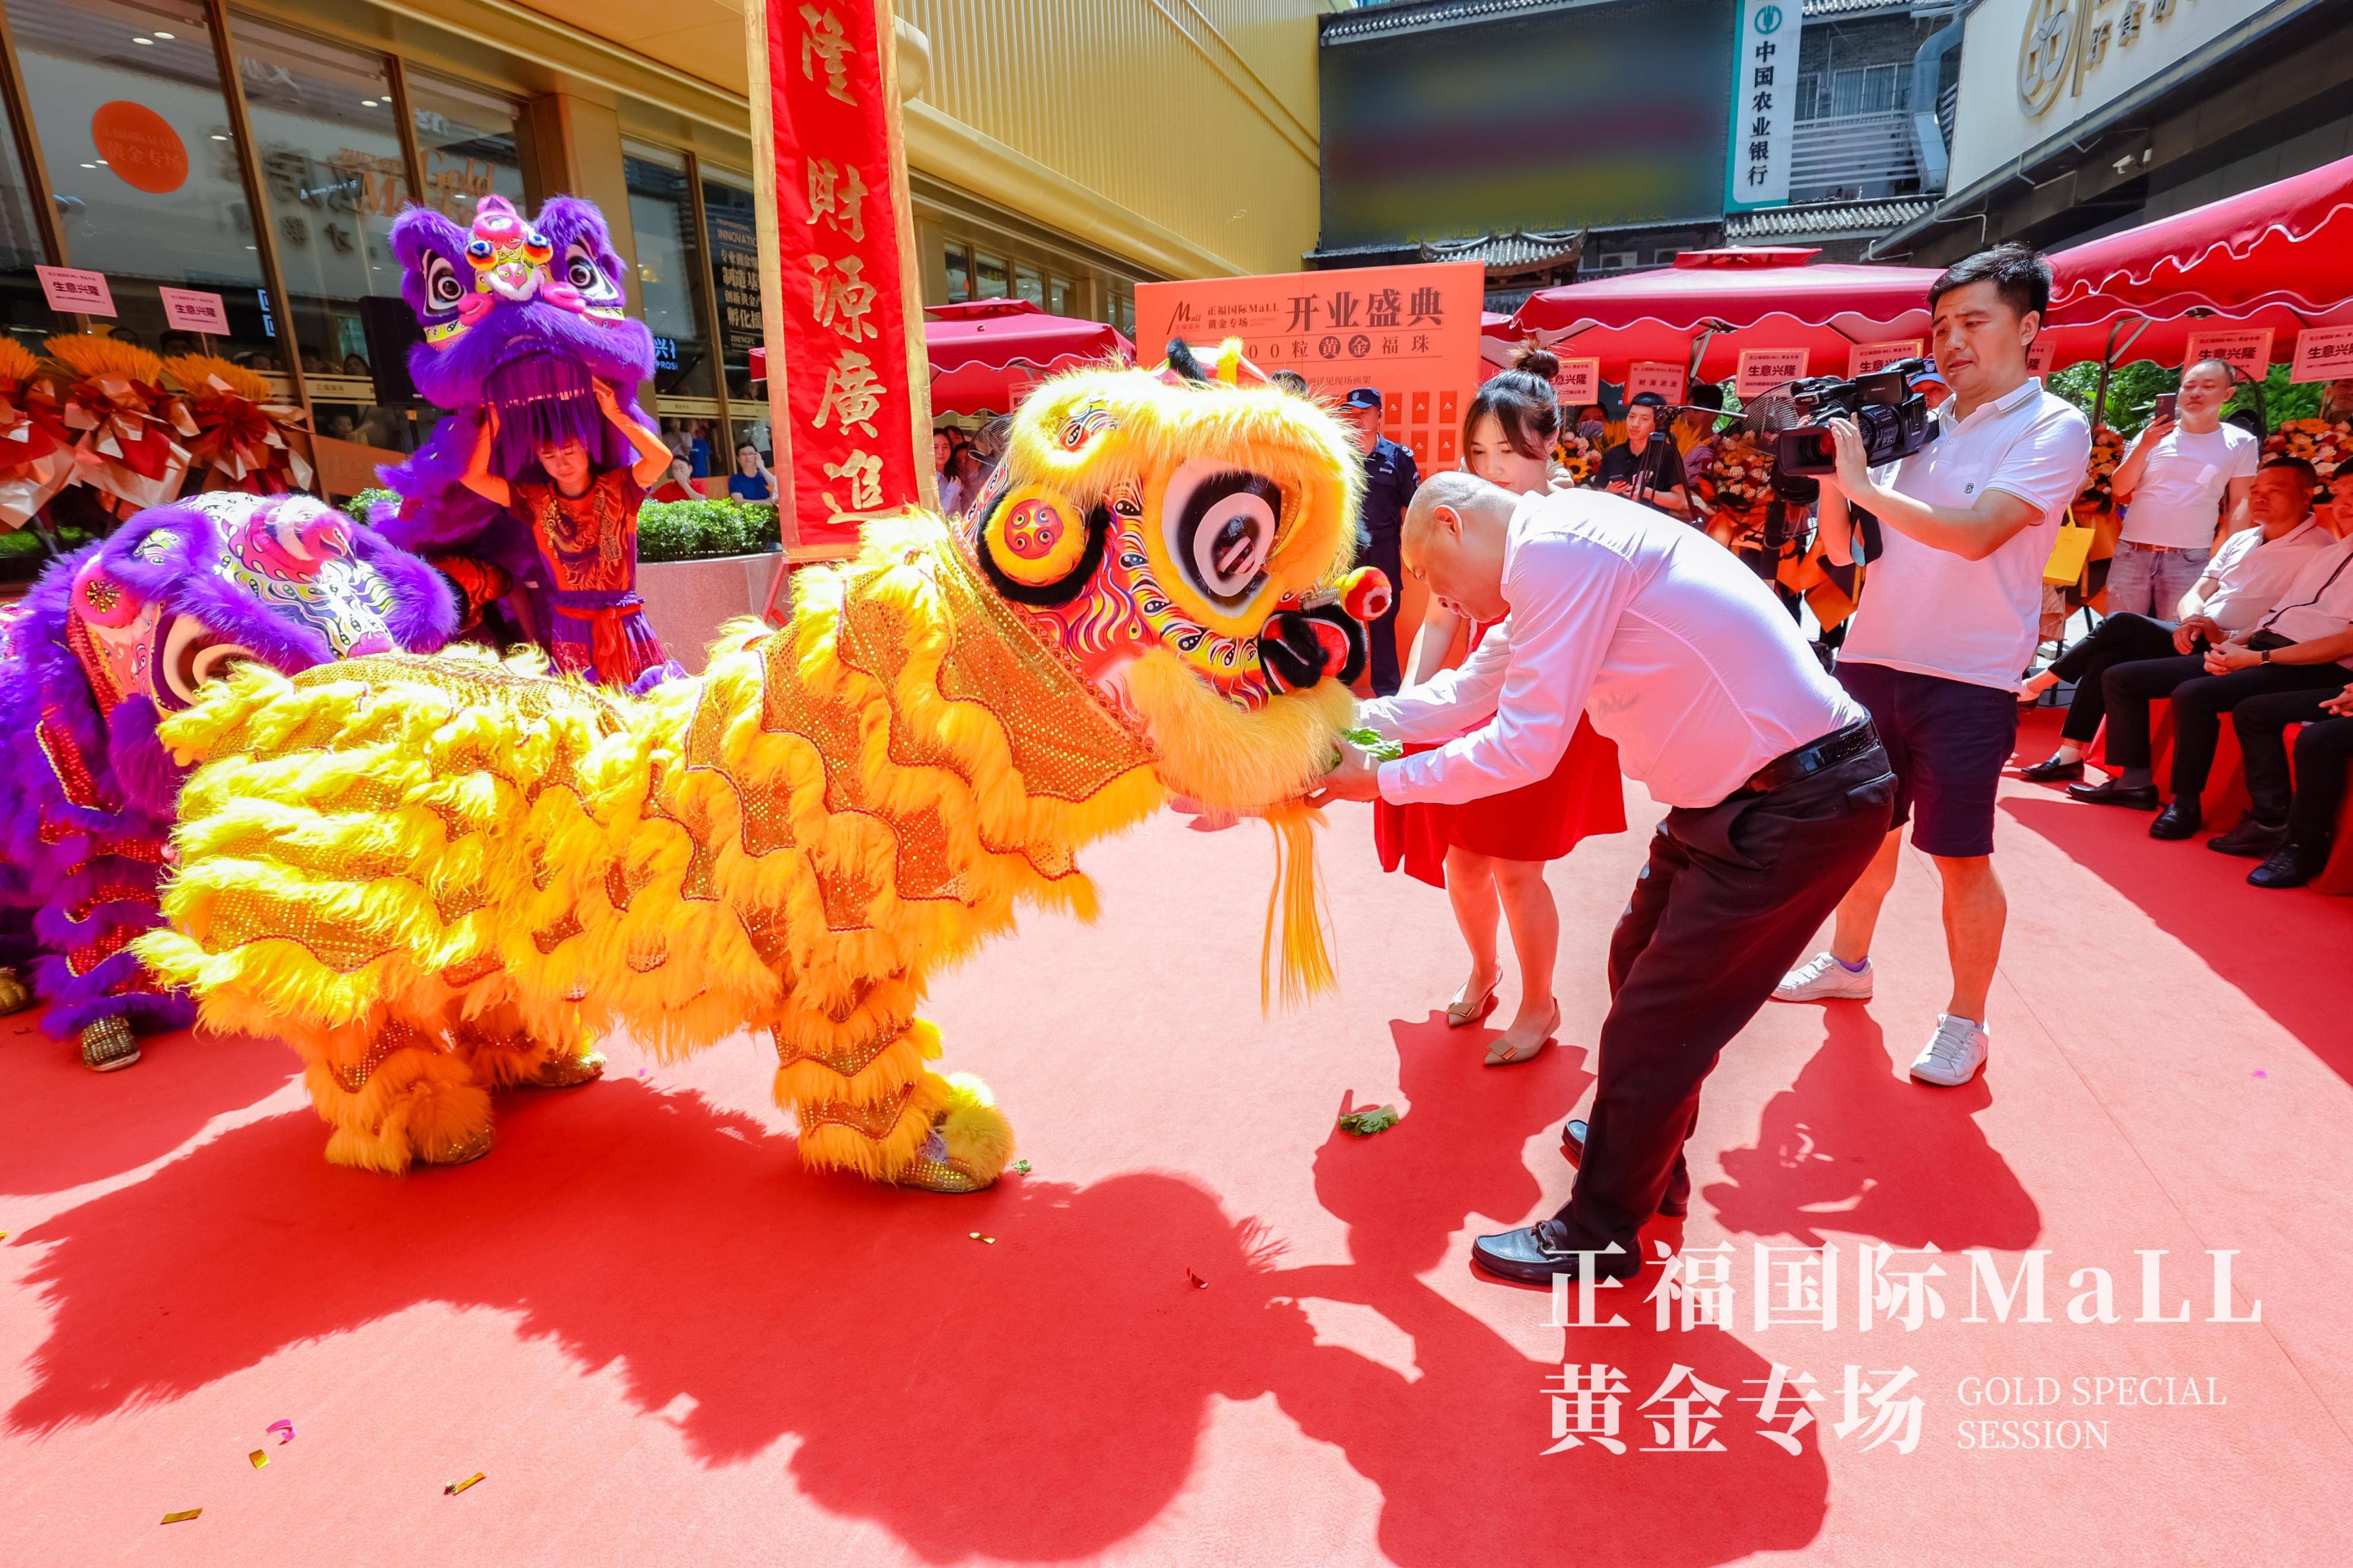
M 1849 559 L 1847 505 L 1880 520 L 1861 607 L 1838 651 L 1840 684 L 1871 710 L 1897 773 L 1894 832 L 1838 905 L 1828 952 L 1793 969 L 1777 1001 L 1871 994 L 1871 933 L 1897 879 L 1901 827 L 1937 860 L 1953 994 L 1911 1065 L 1958 1086 L 1986 1065 L 1986 992 L 2009 903 L 1993 872 L 1993 795 L 2019 738 L 2019 677 L 2042 621 L 2042 567 L 2082 489 L 2092 428 L 2026 371 L 2052 270 L 2024 244 L 1948 268 L 1927 292 L 1937 369 L 1953 397 L 1937 440 L 1864 470 L 1854 423 L 1833 418 L 1838 473 L 1821 480 L 1821 536 Z

